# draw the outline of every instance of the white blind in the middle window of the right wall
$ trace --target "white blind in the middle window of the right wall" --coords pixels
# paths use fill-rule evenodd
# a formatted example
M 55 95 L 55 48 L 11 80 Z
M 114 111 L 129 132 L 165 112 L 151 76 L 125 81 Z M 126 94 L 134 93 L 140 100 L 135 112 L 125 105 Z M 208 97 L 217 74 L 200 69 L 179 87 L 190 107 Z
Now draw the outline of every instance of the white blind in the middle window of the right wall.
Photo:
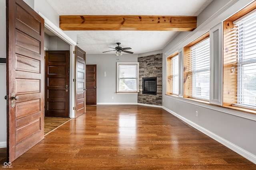
M 209 100 L 210 92 L 210 38 L 190 47 L 192 56 L 192 98 Z

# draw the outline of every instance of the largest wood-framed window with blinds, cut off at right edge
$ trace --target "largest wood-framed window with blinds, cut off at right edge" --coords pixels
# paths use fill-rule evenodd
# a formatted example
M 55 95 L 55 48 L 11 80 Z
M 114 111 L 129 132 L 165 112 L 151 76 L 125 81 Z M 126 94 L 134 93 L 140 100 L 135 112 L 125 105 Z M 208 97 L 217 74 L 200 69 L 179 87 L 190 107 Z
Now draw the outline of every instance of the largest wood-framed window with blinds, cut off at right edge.
M 255 8 L 256 2 L 252 2 L 223 22 L 223 106 L 253 113 L 256 110 Z

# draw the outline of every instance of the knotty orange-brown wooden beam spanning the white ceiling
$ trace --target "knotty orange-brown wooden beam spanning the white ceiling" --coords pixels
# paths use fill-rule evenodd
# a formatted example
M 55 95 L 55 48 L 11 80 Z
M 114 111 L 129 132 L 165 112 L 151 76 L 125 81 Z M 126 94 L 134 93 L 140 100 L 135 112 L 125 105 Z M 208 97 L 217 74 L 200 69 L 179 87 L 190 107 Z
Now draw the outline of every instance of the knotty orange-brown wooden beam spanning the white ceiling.
M 196 16 L 60 16 L 62 30 L 193 31 Z

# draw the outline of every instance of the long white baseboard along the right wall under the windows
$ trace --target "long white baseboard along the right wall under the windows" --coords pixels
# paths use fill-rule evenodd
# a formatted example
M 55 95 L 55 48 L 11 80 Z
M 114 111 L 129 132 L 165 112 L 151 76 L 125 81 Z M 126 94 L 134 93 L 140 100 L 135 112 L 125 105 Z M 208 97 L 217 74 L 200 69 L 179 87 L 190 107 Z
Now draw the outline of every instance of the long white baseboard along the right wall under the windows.
M 178 117 L 179 119 L 181 119 L 182 121 L 188 123 L 188 125 L 194 127 L 195 129 L 197 129 L 198 131 L 204 133 L 205 135 L 211 137 L 212 139 L 218 141 L 219 143 L 221 143 L 222 145 L 228 147 L 229 149 L 233 150 L 234 152 L 240 154 L 241 156 L 243 156 L 244 158 L 250 160 L 251 162 L 253 162 L 254 164 L 256 164 L 256 155 L 251 154 L 250 152 L 234 145 L 233 143 L 227 141 L 226 139 L 212 133 L 211 131 L 208 131 L 207 129 L 197 125 L 196 123 L 186 119 L 185 117 L 182 117 L 180 115 L 178 115 L 177 113 L 171 111 L 170 109 L 167 109 L 166 107 L 162 107 L 163 109 L 165 109 L 166 111 L 168 111 L 169 113 L 171 113 L 172 115 Z

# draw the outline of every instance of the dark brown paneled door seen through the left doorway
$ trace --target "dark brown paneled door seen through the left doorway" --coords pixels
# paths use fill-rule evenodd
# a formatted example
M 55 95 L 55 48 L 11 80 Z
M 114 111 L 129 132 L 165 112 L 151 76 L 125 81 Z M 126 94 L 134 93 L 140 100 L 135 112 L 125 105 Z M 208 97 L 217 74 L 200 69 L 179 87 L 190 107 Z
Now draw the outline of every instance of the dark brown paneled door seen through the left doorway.
M 69 115 L 69 51 L 45 52 L 45 116 Z

